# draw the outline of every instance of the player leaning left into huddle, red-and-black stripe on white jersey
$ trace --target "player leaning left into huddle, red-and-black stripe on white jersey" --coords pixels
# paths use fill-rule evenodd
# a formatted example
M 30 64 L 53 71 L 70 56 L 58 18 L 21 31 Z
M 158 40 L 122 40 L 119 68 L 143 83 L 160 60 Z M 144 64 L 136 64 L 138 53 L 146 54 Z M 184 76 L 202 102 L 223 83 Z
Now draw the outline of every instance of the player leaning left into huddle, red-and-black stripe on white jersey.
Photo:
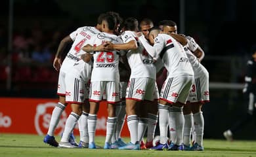
M 166 34 L 160 34 L 159 28 L 151 29 L 149 39 L 146 43 L 144 38 L 139 38 L 146 48 L 147 52 L 154 58 L 161 58 L 165 68 L 169 72 L 160 93 L 158 103 L 159 124 L 160 124 L 160 144 L 152 147 L 154 150 L 164 150 L 168 148 L 167 144 L 167 126 L 169 122 L 169 106 L 172 105 L 177 111 L 175 124 L 177 127 L 177 141 L 175 145 L 169 147 L 169 150 L 184 150 L 182 144 L 182 135 L 184 130 L 184 116 L 182 107 L 186 103 L 192 82 L 194 72 L 190 62 L 184 52 L 183 46 L 173 37 Z

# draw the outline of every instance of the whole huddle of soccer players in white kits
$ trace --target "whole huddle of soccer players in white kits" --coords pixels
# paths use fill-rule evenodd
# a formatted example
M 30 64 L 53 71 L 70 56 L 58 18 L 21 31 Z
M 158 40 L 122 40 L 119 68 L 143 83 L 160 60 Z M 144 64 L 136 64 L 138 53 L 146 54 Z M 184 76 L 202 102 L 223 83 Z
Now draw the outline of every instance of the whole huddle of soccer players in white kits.
M 72 47 L 62 62 L 60 56 L 69 43 Z M 203 56 L 192 37 L 177 34 L 171 20 L 154 27 L 148 18 L 140 23 L 136 18 L 122 22 L 117 12 L 100 14 L 95 27 L 79 27 L 58 46 L 53 66 L 59 71 L 59 102 L 43 141 L 54 147 L 98 148 L 97 113 L 105 99 L 105 149 L 203 150 L 202 105 L 209 101 L 209 74 L 200 63 Z M 159 94 L 156 79 L 163 69 L 167 78 Z M 68 104 L 72 113 L 58 143 L 54 130 Z M 121 139 L 125 116 L 129 143 Z M 156 144 L 157 122 L 161 138 Z M 79 144 L 72 134 L 77 123 Z M 194 143 L 190 141 L 192 132 Z

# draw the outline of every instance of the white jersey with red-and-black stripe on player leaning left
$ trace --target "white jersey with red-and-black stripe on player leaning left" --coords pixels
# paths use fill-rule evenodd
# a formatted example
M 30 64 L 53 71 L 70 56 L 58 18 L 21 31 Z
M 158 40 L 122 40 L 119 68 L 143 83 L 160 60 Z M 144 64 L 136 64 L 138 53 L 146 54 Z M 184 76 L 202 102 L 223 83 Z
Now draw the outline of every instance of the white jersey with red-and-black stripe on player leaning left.
M 171 77 L 194 75 L 183 46 L 170 35 L 158 34 L 153 48 L 148 45 L 145 48 L 156 58 L 161 58 Z

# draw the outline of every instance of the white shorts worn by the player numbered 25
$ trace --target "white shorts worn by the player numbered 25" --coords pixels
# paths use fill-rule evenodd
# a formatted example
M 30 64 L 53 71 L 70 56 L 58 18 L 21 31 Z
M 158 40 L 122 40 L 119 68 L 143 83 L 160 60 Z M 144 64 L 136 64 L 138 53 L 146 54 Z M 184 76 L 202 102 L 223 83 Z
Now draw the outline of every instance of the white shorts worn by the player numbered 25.
M 117 103 L 120 101 L 119 82 L 115 81 L 91 82 L 89 101 L 99 103 L 100 101 L 102 101 L 102 96 L 104 92 L 106 94 L 106 101 L 108 101 L 108 103 Z

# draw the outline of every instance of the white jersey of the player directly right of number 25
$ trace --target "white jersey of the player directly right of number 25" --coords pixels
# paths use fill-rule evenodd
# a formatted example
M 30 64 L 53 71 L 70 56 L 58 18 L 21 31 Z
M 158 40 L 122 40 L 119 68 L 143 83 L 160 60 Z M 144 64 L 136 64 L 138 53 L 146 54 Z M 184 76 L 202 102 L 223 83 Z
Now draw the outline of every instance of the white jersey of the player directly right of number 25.
M 136 41 L 138 48 L 136 50 L 129 50 L 127 52 L 127 60 L 131 67 L 130 78 L 152 78 L 156 79 L 156 67 L 153 64 L 153 58 L 146 52 L 138 40 L 135 32 L 125 31 L 121 38 L 123 43 L 129 43 L 129 41 Z

